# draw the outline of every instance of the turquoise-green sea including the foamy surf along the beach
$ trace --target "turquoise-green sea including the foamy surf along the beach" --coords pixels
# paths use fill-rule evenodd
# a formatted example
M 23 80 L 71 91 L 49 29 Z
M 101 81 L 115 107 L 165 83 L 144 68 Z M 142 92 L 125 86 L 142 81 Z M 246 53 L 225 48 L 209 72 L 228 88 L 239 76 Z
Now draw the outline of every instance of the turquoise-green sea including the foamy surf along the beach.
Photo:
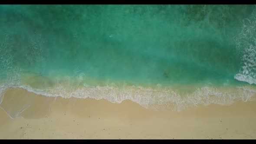
M 0 5 L 8 88 L 152 105 L 256 94 L 254 5 Z

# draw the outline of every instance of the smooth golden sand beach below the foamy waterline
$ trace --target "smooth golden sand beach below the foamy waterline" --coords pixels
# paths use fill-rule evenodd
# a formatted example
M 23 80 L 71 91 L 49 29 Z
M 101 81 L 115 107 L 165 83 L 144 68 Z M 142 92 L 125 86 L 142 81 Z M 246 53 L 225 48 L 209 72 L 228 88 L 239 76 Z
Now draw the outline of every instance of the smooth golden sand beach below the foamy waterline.
M 27 102 L 29 101 L 29 102 Z M 24 103 L 22 118 L 10 118 Z M 46 97 L 5 92 L 0 139 L 255 139 L 256 102 L 155 111 L 133 101 Z

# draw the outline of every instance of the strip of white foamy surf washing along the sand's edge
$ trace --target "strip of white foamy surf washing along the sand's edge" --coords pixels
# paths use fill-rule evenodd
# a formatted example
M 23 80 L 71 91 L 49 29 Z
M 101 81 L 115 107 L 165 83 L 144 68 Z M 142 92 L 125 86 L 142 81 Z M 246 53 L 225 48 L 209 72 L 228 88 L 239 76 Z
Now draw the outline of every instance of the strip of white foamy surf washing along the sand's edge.
M 202 86 L 196 88 L 193 92 L 187 93 L 181 93 L 181 91 L 173 88 L 145 88 L 135 85 L 121 88 L 115 86 L 83 86 L 74 89 L 62 85 L 56 85 L 48 89 L 32 88 L 29 85 L 0 85 L 0 102 L 4 101 L 4 92 L 9 88 L 23 88 L 28 92 L 47 97 L 105 99 L 112 103 L 131 100 L 144 108 L 153 108 L 155 110 L 170 108 L 173 111 L 181 111 L 184 108 L 197 105 L 230 105 L 238 100 L 251 101 L 256 96 L 254 87 L 230 87 L 228 85 L 221 87 Z M 23 105 L 18 114 L 10 115 L 10 117 L 19 117 L 19 114 L 28 107 L 29 105 Z

